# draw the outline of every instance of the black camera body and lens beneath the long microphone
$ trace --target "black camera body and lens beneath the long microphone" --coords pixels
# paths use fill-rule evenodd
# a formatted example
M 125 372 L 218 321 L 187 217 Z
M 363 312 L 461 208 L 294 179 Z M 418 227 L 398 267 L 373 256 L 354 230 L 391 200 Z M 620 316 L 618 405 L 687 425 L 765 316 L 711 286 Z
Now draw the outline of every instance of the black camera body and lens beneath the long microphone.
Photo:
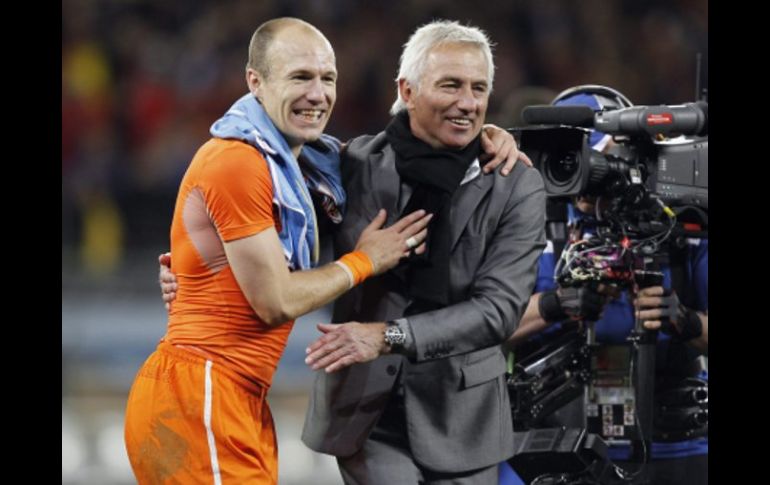
M 656 141 L 613 136 L 606 153 L 573 126 L 521 128 L 521 149 L 543 176 L 549 198 L 593 197 L 617 233 L 645 237 L 667 228 L 703 237 L 708 230 L 708 137 Z

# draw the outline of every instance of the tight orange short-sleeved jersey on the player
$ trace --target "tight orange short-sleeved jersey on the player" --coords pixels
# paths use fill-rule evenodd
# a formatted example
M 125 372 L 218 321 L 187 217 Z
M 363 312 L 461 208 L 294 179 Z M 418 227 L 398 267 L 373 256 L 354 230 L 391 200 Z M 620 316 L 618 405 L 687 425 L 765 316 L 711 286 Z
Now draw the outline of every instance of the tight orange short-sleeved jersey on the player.
M 192 346 L 243 377 L 270 386 L 294 322 L 269 327 L 249 305 L 223 242 L 280 220 L 267 162 L 254 147 L 211 139 L 187 169 L 171 224 L 171 269 L 178 280 L 165 339 Z

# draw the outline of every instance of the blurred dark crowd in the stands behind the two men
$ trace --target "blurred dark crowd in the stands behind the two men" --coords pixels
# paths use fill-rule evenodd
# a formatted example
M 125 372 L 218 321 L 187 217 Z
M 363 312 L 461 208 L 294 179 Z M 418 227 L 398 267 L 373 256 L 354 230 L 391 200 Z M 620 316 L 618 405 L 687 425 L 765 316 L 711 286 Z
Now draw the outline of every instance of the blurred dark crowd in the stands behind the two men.
M 583 83 L 637 104 L 692 101 L 696 53 L 708 72 L 706 0 L 65 0 L 62 13 L 63 248 L 97 274 L 134 248 L 168 247 L 179 180 L 246 92 L 248 41 L 273 17 L 303 18 L 332 42 L 329 132 L 343 140 L 386 124 L 401 46 L 434 18 L 496 42 L 488 119 L 506 127 L 523 105 Z

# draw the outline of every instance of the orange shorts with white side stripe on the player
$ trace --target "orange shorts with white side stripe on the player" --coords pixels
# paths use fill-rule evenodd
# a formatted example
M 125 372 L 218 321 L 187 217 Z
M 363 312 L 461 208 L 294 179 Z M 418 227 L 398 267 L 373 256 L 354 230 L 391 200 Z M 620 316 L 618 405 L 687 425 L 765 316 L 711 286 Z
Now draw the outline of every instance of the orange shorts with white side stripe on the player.
M 275 484 L 267 389 L 161 342 L 134 380 L 126 449 L 140 484 Z

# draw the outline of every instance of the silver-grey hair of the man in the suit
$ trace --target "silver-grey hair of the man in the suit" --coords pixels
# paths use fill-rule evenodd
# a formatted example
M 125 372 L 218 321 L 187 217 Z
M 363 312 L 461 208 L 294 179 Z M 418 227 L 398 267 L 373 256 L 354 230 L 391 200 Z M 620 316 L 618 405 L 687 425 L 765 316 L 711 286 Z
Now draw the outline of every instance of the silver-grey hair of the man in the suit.
M 404 44 L 401 61 L 396 77 L 396 101 L 390 108 L 390 114 L 395 115 L 406 109 L 406 102 L 401 98 L 398 81 L 406 79 L 417 86 L 425 70 L 425 61 L 434 47 L 446 43 L 468 43 L 477 46 L 487 60 L 487 83 L 492 92 L 492 81 L 495 77 L 495 63 L 492 59 L 492 43 L 487 34 L 478 27 L 460 25 L 450 20 L 434 20 L 415 30 L 414 34 Z

